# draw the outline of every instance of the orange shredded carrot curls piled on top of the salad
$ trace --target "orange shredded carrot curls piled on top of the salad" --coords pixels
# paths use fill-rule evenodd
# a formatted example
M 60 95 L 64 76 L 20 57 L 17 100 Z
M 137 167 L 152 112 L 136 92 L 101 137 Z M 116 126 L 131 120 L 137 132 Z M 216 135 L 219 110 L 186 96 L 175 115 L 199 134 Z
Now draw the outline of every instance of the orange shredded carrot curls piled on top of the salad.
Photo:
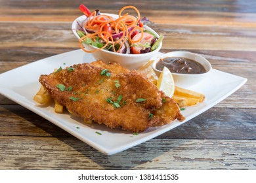
M 128 13 L 121 15 L 123 10 L 126 10 L 127 8 L 134 9 L 137 12 L 137 17 L 131 16 Z M 106 48 L 108 44 L 112 44 L 114 52 L 119 52 L 125 41 L 129 41 L 131 42 L 131 44 L 141 41 L 144 29 L 137 25 L 139 24 L 140 21 L 139 10 L 133 6 L 123 7 L 119 10 L 118 16 L 119 17 L 115 20 L 114 18 L 106 14 L 96 16 L 96 11 L 92 12 L 90 16 L 87 18 L 85 29 L 93 31 L 95 33 L 88 33 L 87 35 L 79 39 L 79 45 L 82 48 L 82 50 L 84 50 L 85 52 L 92 53 Z M 106 30 L 106 27 L 108 27 L 108 30 Z M 137 40 L 132 40 L 131 35 L 134 31 L 137 30 L 139 30 L 142 33 L 142 36 Z M 122 32 L 122 35 L 121 37 L 119 37 L 119 39 L 114 40 L 114 38 L 112 37 L 113 32 L 115 34 Z M 87 38 L 93 39 L 96 37 L 100 37 L 100 39 L 104 41 L 104 46 L 96 50 L 86 50 L 83 46 L 83 41 L 85 41 Z M 118 50 L 116 50 L 115 48 L 115 44 L 117 43 L 120 44 Z

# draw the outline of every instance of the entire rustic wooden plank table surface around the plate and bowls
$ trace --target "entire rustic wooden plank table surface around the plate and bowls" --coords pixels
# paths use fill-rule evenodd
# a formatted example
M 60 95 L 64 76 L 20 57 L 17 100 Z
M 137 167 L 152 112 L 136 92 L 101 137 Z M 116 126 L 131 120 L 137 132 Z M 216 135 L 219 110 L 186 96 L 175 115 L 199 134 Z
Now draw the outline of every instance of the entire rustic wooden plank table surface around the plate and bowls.
M 254 0 L 0 0 L 0 73 L 79 49 L 71 24 L 81 3 L 109 13 L 134 5 L 165 36 L 161 52 L 195 52 L 248 80 L 189 122 L 112 156 L 0 95 L 0 169 L 256 169 Z

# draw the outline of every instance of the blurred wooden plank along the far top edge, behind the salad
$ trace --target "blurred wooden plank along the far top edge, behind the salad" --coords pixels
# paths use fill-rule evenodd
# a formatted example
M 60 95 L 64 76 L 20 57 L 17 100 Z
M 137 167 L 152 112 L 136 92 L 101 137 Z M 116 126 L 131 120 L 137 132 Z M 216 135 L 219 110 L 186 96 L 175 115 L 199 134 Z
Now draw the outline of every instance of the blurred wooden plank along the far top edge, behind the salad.
M 3 0 L 2 0 L 3 1 Z M 25 1 L 26 2 L 26 1 Z M 77 10 L 79 2 L 68 1 L 28 1 L 24 6 L 22 1 L 1 2 L 0 21 L 73 21 L 81 13 Z M 169 24 L 170 18 L 173 24 L 198 24 L 198 25 L 222 25 L 255 27 L 255 3 L 234 3 L 233 1 L 97 1 L 96 6 L 84 2 L 91 10 L 96 8 L 102 12 L 115 13 L 125 5 L 136 5 L 142 16 L 148 16 L 154 22 Z M 236 13 L 234 13 L 236 11 Z M 236 20 L 236 21 L 234 21 Z

